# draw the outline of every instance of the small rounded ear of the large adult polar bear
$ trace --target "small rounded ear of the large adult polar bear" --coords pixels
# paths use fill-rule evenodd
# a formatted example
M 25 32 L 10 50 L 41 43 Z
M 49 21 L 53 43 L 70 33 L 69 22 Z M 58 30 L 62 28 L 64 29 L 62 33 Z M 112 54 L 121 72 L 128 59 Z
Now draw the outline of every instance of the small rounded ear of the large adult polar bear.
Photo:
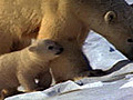
M 112 21 L 116 19 L 116 13 L 114 11 L 108 11 L 104 16 L 104 21 L 110 24 Z

